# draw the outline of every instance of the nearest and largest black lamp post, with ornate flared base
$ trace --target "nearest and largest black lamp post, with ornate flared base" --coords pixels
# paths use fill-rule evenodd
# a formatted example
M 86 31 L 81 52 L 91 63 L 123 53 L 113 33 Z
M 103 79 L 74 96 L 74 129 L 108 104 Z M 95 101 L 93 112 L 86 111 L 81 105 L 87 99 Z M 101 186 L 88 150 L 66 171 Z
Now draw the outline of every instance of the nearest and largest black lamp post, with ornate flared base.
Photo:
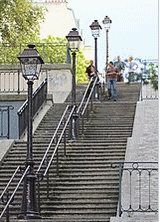
M 23 199 L 19 219 L 38 219 L 41 218 L 37 208 L 36 189 L 34 174 L 34 161 L 32 157 L 32 91 L 34 80 L 37 80 L 44 61 L 38 51 L 34 49 L 35 45 L 29 44 L 28 49 L 24 49 L 17 58 L 20 60 L 23 77 L 28 81 L 28 129 L 27 129 L 27 157 L 26 168 L 29 170 L 24 178 Z

